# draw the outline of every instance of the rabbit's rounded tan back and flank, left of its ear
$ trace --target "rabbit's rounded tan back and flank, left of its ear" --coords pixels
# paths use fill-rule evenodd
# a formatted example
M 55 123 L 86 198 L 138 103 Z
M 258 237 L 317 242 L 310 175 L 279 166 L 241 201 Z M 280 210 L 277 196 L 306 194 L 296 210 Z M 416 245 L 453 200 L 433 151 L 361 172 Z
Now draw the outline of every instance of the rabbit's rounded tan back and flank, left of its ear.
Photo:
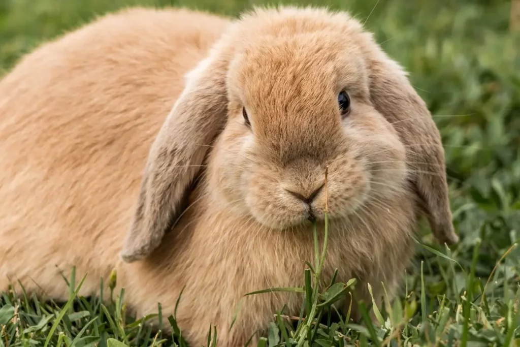
M 59 272 L 119 262 L 155 134 L 227 20 L 127 9 L 45 43 L 0 81 L 0 289 L 60 298 Z

